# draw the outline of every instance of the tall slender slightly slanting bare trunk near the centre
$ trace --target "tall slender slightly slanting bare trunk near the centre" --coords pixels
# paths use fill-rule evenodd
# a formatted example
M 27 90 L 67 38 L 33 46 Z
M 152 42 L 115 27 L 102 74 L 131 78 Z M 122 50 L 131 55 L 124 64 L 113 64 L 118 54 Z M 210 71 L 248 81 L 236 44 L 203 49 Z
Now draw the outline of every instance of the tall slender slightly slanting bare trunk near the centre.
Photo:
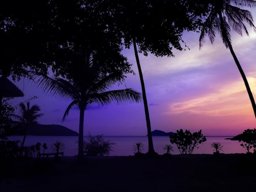
M 136 58 L 136 62 L 137 62 L 138 70 L 139 70 L 139 78 L 140 78 L 141 89 L 142 89 L 142 98 L 143 98 L 145 116 L 146 116 L 146 125 L 147 125 L 147 131 L 148 131 L 148 154 L 155 154 L 155 150 L 154 150 L 154 146 L 153 146 L 153 138 L 152 138 L 152 134 L 151 134 L 151 125 L 150 125 L 150 118 L 149 118 L 149 112 L 148 112 L 146 89 L 145 89 L 145 84 L 144 84 L 144 80 L 143 80 L 143 76 L 142 76 L 141 66 L 139 63 L 139 56 L 138 56 L 135 38 L 133 38 L 133 47 L 134 47 L 135 58 Z

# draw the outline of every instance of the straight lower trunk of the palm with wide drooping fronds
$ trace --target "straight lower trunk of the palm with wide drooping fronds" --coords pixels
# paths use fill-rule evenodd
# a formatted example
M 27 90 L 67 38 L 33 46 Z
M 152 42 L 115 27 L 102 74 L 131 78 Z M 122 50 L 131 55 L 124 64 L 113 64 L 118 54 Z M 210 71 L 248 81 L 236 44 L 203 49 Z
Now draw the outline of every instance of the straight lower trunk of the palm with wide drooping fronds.
M 79 107 L 80 116 L 79 116 L 79 136 L 78 136 L 78 160 L 82 160 L 84 156 L 83 152 L 83 121 L 84 121 L 84 107 Z

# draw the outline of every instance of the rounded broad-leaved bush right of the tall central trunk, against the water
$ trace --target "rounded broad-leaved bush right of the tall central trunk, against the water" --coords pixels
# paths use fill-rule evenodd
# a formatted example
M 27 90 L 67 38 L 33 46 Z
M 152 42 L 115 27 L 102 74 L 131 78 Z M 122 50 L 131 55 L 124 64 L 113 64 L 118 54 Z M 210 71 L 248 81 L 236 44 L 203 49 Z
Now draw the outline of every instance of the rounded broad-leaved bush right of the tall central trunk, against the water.
M 192 154 L 198 144 L 206 141 L 206 137 L 202 135 L 202 130 L 191 134 L 189 130 L 183 132 L 182 129 L 170 135 L 171 143 L 175 143 L 181 154 Z M 198 147 L 197 147 L 198 148 Z

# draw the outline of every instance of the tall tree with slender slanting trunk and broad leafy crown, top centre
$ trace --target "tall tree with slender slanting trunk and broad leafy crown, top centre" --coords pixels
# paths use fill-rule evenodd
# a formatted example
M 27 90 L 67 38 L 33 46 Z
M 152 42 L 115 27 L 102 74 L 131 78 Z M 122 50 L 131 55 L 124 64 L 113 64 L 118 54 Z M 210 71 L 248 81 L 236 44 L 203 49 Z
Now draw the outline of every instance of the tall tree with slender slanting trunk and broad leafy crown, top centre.
M 123 33 L 124 45 L 130 48 L 133 44 L 146 117 L 147 154 L 154 155 L 146 89 L 138 53 L 162 57 L 174 56 L 173 48 L 186 50 L 180 45 L 181 42 L 184 43 L 182 33 L 184 30 L 195 31 L 201 26 L 201 18 L 208 12 L 208 3 L 200 0 L 130 0 L 119 2 L 116 9 L 118 11 L 115 19 L 117 27 Z

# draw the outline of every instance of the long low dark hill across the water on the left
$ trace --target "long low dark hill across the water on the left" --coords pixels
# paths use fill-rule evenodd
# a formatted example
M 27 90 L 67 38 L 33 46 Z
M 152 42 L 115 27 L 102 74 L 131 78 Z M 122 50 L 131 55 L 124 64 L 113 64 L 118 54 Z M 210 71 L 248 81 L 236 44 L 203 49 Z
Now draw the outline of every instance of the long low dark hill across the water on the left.
M 31 125 L 27 135 L 35 136 L 78 136 L 78 133 L 62 125 Z

